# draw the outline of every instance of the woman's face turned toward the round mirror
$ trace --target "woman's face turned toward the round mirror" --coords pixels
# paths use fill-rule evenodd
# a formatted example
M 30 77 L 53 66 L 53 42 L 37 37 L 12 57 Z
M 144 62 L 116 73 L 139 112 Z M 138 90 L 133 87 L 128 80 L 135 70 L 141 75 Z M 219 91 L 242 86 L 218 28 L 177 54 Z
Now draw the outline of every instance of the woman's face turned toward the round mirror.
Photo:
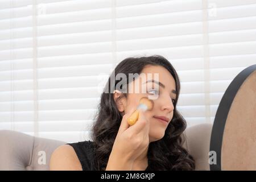
M 155 73 L 158 77 L 154 77 Z M 166 128 L 174 115 L 173 103 L 176 100 L 176 84 L 171 73 L 162 66 L 147 65 L 143 68 L 141 75 L 146 75 L 146 80 L 141 77 L 130 82 L 129 86 L 132 86 L 133 92 L 128 89 L 123 111 L 126 114 L 131 108 L 136 108 L 142 97 L 151 99 L 154 102 L 154 107 L 152 110 L 145 111 L 144 114 L 147 121 L 150 122 L 149 140 L 154 142 L 164 137 Z M 158 117 L 166 117 L 167 121 Z

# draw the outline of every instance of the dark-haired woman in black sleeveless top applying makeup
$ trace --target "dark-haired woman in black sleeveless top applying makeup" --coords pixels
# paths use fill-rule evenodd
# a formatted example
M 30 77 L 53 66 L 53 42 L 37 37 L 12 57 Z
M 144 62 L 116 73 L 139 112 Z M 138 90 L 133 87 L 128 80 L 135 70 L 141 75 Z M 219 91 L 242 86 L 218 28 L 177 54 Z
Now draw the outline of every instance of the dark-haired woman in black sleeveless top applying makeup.
M 129 79 L 131 73 L 137 73 L 137 77 Z M 119 74 L 127 79 L 122 77 L 119 81 Z M 146 82 L 141 80 L 141 75 L 146 75 Z M 136 85 L 139 92 L 136 92 Z M 146 92 L 142 92 L 145 88 Z M 121 61 L 101 94 L 92 132 L 93 142 L 60 146 L 52 154 L 50 169 L 195 169 L 195 161 L 182 147 L 181 136 L 186 122 L 176 110 L 179 93 L 179 77 L 164 57 L 130 57 Z M 130 126 L 127 118 L 142 97 L 151 97 L 154 107 L 139 110 L 138 121 Z

